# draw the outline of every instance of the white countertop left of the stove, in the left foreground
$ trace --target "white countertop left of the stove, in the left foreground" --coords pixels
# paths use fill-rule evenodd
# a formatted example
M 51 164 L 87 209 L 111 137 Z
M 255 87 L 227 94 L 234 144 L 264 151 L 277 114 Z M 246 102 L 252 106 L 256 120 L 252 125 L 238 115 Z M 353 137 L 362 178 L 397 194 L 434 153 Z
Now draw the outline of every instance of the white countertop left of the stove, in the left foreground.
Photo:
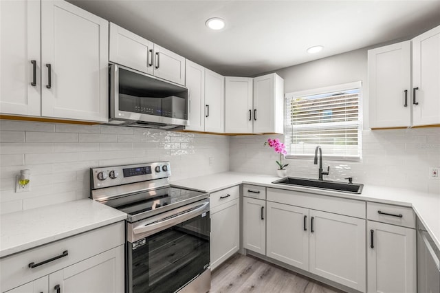
M 126 219 L 91 199 L 23 210 L 0 217 L 0 257 Z

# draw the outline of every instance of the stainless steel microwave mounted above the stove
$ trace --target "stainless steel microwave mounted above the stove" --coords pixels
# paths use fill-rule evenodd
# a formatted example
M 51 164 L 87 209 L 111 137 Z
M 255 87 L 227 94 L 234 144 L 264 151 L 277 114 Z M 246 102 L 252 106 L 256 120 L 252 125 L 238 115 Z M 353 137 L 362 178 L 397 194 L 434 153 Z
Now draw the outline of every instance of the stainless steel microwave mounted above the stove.
M 109 65 L 109 124 L 184 129 L 188 89 L 117 64 Z

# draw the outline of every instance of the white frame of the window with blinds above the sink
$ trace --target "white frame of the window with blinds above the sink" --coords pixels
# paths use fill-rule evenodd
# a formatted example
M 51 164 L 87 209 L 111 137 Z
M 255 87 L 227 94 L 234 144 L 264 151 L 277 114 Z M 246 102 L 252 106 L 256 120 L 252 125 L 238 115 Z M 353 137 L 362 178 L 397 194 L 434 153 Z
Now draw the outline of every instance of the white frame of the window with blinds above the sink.
M 363 129 L 363 89 L 362 89 L 362 81 L 355 81 L 351 83 L 342 83 L 339 85 L 331 85 L 329 87 L 319 87 L 316 89 L 305 89 L 303 91 L 293 91 L 285 94 L 285 127 L 284 127 L 284 136 L 285 138 L 289 135 L 292 135 L 293 127 L 290 124 L 287 124 L 287 100 L 290 100 L 294 97 L 304 97 L 304 96 L 315 96 L 319 94 L 330 94 L 336 91 L 347 91 L 349 89 L 359 89 L 359 102 L 358 102 L 358 150 L 359 155 L 335 155 L 323 152 L 322 158 L 325 160 L 331 161 L 348 161 L 348 162 L 362 162 L 362 129 Z M 353 123 L 354 124 L 354 123 Z M 318 129 L 318 127 L 316 127 Z M 286 140 L 285 140 L 286 142 Z M 286 149 L 288 149 L 289 153 L 285 155 L 286 159 L 300 159 L 300 160 L 308 160 L 310 158 L 314 158 L 314 154 L 292 154 L 290 146 L 286 144 Z

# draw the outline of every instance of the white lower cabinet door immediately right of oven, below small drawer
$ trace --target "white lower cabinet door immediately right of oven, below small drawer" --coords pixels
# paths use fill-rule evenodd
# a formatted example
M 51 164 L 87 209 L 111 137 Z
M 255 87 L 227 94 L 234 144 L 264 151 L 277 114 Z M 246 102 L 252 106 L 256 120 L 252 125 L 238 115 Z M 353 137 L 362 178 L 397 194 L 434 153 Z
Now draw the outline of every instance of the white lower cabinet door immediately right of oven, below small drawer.
M 210 217 L 210 259 L 214 270 L 240 248 L 239 199 L 212 208 Z

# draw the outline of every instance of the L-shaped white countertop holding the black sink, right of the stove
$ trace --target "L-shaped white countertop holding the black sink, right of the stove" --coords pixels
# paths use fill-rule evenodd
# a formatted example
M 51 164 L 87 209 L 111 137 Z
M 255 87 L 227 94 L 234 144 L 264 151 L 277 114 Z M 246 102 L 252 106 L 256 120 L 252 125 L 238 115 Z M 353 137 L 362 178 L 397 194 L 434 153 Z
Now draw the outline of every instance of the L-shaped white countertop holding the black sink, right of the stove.
M 430 236 L 440 249 L 440 195 L 434 193 L 423 193 L 421 191 L 411 191 L 402 188 L 390 188 L 384 186 L 364 185 L 362 194 L 353 195 L 340 193 L 337 191 L 316 191 L 313 188 L 283 186 L 272 184 L 279 180 L 279 177 L 256 175 L 250 173 L 225 172 L 201 177 L 194 177 L 186 180 L 171 182 L 175 186 L 195 188 L 201 191 L 212 193 L 224 188 L 236 186 L 238 184 L 256 184 L 266 187 L 303 191 L 320 195 L 331 195 L 334 197 L 344 197 L 349 199 L 359 199 L 366 202 L 380 202 L 383 204 L 396 204 L 399 206 L 412 207 L 419 217 L 423 226 L 426 227 Z

